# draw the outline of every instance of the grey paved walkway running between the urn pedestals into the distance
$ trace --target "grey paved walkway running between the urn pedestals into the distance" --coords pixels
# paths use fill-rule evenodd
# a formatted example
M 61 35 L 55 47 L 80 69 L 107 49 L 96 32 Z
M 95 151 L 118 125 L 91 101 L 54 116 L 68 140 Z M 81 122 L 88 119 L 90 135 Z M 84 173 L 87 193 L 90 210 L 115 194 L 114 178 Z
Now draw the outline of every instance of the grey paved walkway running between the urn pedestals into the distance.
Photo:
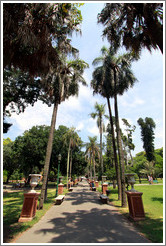
M 13 243 L 150 243 L 113 206 L 102 204 L 86 181 L 74 187 Z

